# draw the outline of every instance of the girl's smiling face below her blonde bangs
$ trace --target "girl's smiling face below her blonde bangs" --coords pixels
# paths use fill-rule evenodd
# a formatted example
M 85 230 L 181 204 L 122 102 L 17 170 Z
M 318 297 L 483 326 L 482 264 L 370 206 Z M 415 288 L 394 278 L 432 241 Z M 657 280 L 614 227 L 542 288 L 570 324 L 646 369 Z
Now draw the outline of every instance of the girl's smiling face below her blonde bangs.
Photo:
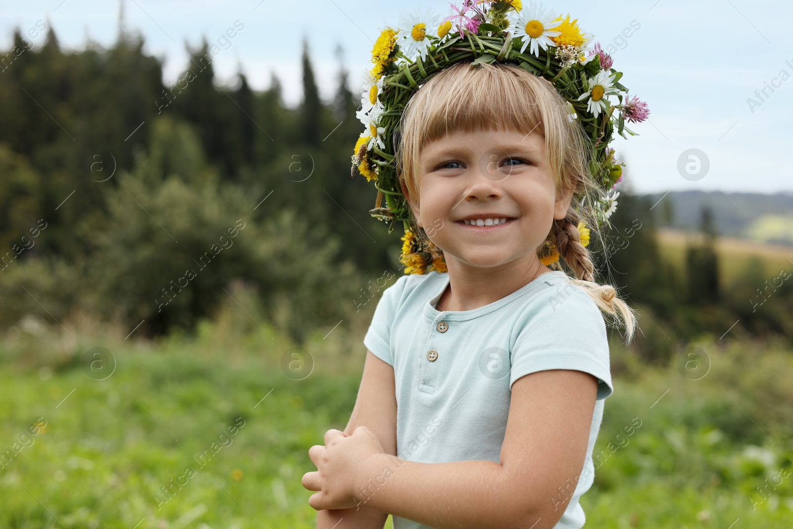
M 427 144 L 419 162 L 420 206 L 408 201 L 450 270 L 539 266 L 536 250 L 572 197 L 557 196 L 541 134 L 458 131 Z

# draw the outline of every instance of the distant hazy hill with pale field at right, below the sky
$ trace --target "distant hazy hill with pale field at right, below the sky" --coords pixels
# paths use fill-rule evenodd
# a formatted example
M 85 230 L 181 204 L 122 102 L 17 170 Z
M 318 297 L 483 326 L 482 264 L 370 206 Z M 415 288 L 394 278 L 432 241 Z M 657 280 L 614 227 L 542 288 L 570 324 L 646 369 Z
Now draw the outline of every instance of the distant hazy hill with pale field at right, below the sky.
M 703 206 L 714 214 L 718 234 L 793 246 L 793 193 L 723 193 L 669 191 L 639 194 L 649 197 L 656 225 L 687 232 L 699 231 Z

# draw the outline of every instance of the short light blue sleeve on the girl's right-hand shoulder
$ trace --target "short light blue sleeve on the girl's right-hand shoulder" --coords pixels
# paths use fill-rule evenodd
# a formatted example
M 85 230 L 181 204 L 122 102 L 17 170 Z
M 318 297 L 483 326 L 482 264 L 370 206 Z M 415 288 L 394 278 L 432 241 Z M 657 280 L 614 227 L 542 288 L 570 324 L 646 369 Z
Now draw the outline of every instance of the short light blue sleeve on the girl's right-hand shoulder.
M 584 290 L 568 283 L 543 289 L 531 298 L 512 334 L 510 388 L 524 375 L 566 369 L 598 379 L 596 400 L 613 393 L 606 324 Z

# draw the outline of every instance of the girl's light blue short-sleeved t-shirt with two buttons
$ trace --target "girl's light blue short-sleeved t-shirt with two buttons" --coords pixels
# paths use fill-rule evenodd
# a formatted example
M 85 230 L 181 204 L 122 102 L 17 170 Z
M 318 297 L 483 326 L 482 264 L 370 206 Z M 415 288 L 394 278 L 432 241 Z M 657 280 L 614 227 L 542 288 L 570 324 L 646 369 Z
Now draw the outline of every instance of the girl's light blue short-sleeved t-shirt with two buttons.
M 579 497 L 594 479 L 592 449 L 611 395 L 603 315 L 561 271 L 478 309 L 440 312 L 449 284 L 436 271 L 397 279 L 382 294 L 363 343 L 393 366 L 397 387 L 397 457 L 435 463 L 500 462 L 511 386 L 542 370 L 579 370 L 598 378 L 584 467 L 550 501 L 570 503 L 554 529 L 584 526 Z M 376 487 L 376 485 L 374 485 Z M 394 529 L 427 526 L 393 516 Z

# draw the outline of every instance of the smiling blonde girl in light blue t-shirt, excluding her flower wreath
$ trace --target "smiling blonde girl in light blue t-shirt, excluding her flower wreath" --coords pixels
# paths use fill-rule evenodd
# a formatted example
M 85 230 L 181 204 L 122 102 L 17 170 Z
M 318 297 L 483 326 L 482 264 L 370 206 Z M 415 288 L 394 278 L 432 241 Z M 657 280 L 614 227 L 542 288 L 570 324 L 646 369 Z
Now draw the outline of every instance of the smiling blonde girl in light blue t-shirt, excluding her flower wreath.
M 629 340 L 635 321 L 593 282 L 588 139 L 550 82 L 501 63 L 429 77 L 400 131 L 414 273 L 377 304 L 347 428 L 308 451 L 317 527 L 583 527 L 613 391 L 601 311 Z

